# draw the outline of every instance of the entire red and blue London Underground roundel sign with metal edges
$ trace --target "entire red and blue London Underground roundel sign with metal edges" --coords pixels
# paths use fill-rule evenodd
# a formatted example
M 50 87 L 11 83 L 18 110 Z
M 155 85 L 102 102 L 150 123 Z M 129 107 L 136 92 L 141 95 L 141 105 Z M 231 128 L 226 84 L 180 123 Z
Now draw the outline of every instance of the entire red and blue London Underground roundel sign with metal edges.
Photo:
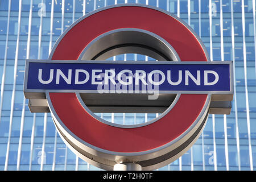
M 106 60 L 123 53 L 159 61 Z M 68 27 L 48 60 L 27 60 L 24 95 L 31 111 L 51 111 L 61 138 L 80 158 L 104 169 L 132 162 L 148 170 L 188 151 L 209 113 L 230 112 L 232 74 L 232 62 L 210 61 L 177 16 L 114 5 Z M 120 125 L 94 114 L 100 111 L 162 114 Z

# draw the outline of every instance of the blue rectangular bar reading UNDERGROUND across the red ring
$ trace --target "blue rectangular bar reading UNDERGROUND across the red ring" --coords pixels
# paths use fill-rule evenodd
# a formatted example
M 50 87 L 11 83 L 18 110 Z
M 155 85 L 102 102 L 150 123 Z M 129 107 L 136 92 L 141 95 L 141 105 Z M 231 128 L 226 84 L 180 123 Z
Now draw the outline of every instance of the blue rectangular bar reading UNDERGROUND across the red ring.
M 28 61 L 26 89 L 230 91 L 229 61 L 150 62 Z

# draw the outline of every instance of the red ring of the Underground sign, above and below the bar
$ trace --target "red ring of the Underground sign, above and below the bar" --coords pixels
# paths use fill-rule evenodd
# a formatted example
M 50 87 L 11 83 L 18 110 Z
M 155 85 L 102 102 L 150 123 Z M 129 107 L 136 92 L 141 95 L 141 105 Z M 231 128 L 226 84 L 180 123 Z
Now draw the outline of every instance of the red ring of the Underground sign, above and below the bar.
M 64 31 L 49 59 L 77 60 L 93 39 L 119 28 L 140 28 L 159 35 L 171 44 L 181 61 L 209 61 L 200 38 L 182 20 L 167 11 L 134 4 L 109 6 L 83 16 Z M 65 131 L 64 139 L 77 140 L 81 148 L 112 159 L 112 155 L 158 152 L 157 157 L 167 152 L 165 148 L 179 146 L 186 134 L 199 127 L 201 118 L 207 117 L 210 96 L 181 94 L 176 105 L 158 121 L 142 127 L 120 128 L 94 118 L 82 107 L 76 93 L 47 92 L 55 125 Z M 148 156 L 143 158 L 146 159 Z

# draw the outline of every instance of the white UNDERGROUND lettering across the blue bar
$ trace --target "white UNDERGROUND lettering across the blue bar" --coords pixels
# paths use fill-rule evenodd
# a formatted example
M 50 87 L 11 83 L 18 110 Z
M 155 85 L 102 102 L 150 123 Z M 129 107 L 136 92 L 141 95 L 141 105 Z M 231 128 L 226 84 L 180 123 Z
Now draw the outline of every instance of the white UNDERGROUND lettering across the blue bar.
M 56 77 L 54 74 L 56 74 Z M 53 78 L 56 78 L 56 81 L 53 81 Z M 163 72 L 155 69 L 150 73 L 147 73 L 143 70 L 133 71 L 130 69 L 123 69 L 120 72 L 115 73 L 115 69 L 106 69 L 103 72 L 102 69 L 92 69 L 90 73 L 85 69 L 68 69 L 68 71 L 67 69 L 64 71 L 61 69 L 56 69 L 56 71 L 55 69 L 48 69 L 47 72 L 45 69 L 38 69 L 38 80 L 41 84 L 49 84 L 51 82 L 60 84 L 61 78 L 63 79 L 62 82 L 66 82 L 69 85 L 82 85 L 89 81 L 92 85 L 110 85 L 110 87 L 113 86 L 113 88 L 110 88 L 110 90 L 113 90 L 117 84 L 120 91 L 124 89 L 127 90 L 127 88 L 124 86 L 129 85 L 129 90 L 135 90 L 138 93 L 140 93 L 139 90 L 147 90 L 146 88 L 149 88 L 150 86 L 158 86 L 164 82 L 166 84 L 168 82 L 170 85 L 180 85 L 182 82 L 182 84 L 186 86 L 191 85 L 194 82 L 196 85 L 202 84 L 209 86 L 216 84 L 220 80 L 218 73 L 212 70 L 204 70 L 204 80 L 201 82 L 200 70 L 193 71 L 192 73 L 189 70 L 185 70 L 183 75 L 182 70 L 167 70 L 166 72 Z

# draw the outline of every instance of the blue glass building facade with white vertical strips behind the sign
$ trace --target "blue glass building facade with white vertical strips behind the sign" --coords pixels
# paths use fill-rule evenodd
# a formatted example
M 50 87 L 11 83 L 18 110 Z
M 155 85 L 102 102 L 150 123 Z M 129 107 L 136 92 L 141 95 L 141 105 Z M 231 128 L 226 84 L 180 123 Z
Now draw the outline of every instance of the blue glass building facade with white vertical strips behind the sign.
M 47 59 L 57 38 L 82 15 L 119 3 L 170 11 L 196 31 L 211 60 L 234 63 L 230 115 L 210 114 L 193 147 L 159 170 L 255 170 L 255 0 L 0 0 L 0 170 L 101 170 L 69 150 L 51 114 L 30 113 L 23 96 L 24 64 L 26 59 Z M 112 59 L 151 60 L 134 54 Z M 125 124 L 158 116 L 97 114 Z

